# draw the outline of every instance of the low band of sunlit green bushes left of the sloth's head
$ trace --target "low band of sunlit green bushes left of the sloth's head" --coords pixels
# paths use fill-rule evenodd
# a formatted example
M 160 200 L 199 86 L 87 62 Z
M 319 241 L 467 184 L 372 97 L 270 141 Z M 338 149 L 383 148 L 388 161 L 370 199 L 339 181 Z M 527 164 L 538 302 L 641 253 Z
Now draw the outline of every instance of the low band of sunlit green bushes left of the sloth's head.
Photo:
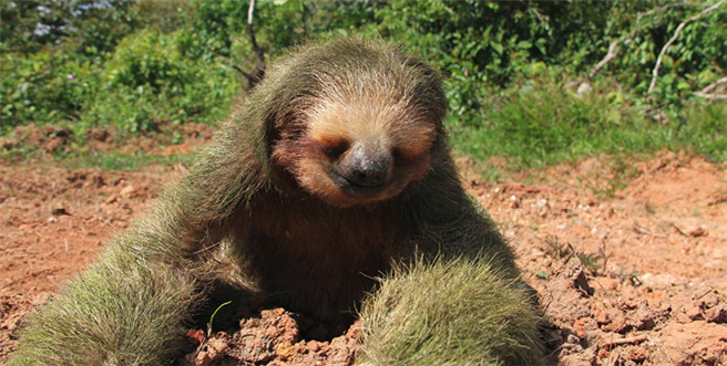
M 91 126 L 152 132 L 164 121 L 211 122 L 239 93 L 239 76 L 217 64 L 188 60 L 177 33 L 132 33 L 101 67 L 60 51 L 7 53 L 0 67 L 2 132 L 16 125 L 69 125 L 79 136 Z

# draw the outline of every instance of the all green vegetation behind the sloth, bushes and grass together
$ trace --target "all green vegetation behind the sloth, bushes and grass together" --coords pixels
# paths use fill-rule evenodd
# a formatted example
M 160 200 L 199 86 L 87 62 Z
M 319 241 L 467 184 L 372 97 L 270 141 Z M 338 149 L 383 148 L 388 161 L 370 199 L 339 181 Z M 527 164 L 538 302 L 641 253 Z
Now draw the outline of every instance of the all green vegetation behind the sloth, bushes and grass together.
M 0 135 L 214 123 L 253 71 L 248 0 L 0 0 Z M 269 63 L 308 38 L 400 41 L 447 76 L 454 148 L 542 166 L 688 149 L 727 160 L 725 0 L 277 0 Z M 12 147 L 2 147 L 6 153 Z

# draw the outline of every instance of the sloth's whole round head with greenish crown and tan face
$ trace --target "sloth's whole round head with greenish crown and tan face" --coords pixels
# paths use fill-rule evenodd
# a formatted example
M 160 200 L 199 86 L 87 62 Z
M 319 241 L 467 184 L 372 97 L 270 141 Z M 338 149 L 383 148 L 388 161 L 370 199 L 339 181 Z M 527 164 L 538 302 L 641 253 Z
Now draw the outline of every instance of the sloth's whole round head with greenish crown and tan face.
M 305 191 L 334 206 L 365 205 L 431 170 L 447 102 L 429 66 L 391 45 L 345 40 L 307 49 L 283 69 L 295 92 L 276 118 L 272 156 Z

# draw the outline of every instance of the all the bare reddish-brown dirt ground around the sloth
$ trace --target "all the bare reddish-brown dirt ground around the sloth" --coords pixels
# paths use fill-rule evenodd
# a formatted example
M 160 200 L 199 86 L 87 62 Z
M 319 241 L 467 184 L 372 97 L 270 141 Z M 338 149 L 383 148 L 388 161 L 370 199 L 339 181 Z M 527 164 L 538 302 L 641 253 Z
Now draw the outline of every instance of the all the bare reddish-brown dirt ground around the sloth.
M 63 146 L 53 144 L 47 148 Z M 146 144 L 160 154 L 188 148 Z M 618 169 L 608 161 L 591 158 L 491 184 L 477 178 L 472 161 L 458 159 L 465 187 L 500 223 L 524 279 L 539 291 L 546 363 L 727 365 L 725 167 L 672 151 Z M 24 316 L 184 170 L 0 160 L 0 363 Z M 335 331 L 283 309 L 250 304 L 248 312 L 236 334 L 190 330 L 197 348 L 183 364 L 352 364 L 356 325 L 314 341 L 313 334 Z

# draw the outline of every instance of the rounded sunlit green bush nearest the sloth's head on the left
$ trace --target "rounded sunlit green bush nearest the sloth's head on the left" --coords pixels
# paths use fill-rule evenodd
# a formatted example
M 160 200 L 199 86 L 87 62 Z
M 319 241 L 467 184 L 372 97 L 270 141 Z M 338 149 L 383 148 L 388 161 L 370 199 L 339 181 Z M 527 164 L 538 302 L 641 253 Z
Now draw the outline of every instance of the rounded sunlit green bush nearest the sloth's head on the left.
M 104 69 L 100 93 L 83 121 L 151 132 L 162 121 L 219 119 L 239 93 L 238 76 L 221 64 L 185 57 L 178 33 L 143 30 L 122 40 Z

